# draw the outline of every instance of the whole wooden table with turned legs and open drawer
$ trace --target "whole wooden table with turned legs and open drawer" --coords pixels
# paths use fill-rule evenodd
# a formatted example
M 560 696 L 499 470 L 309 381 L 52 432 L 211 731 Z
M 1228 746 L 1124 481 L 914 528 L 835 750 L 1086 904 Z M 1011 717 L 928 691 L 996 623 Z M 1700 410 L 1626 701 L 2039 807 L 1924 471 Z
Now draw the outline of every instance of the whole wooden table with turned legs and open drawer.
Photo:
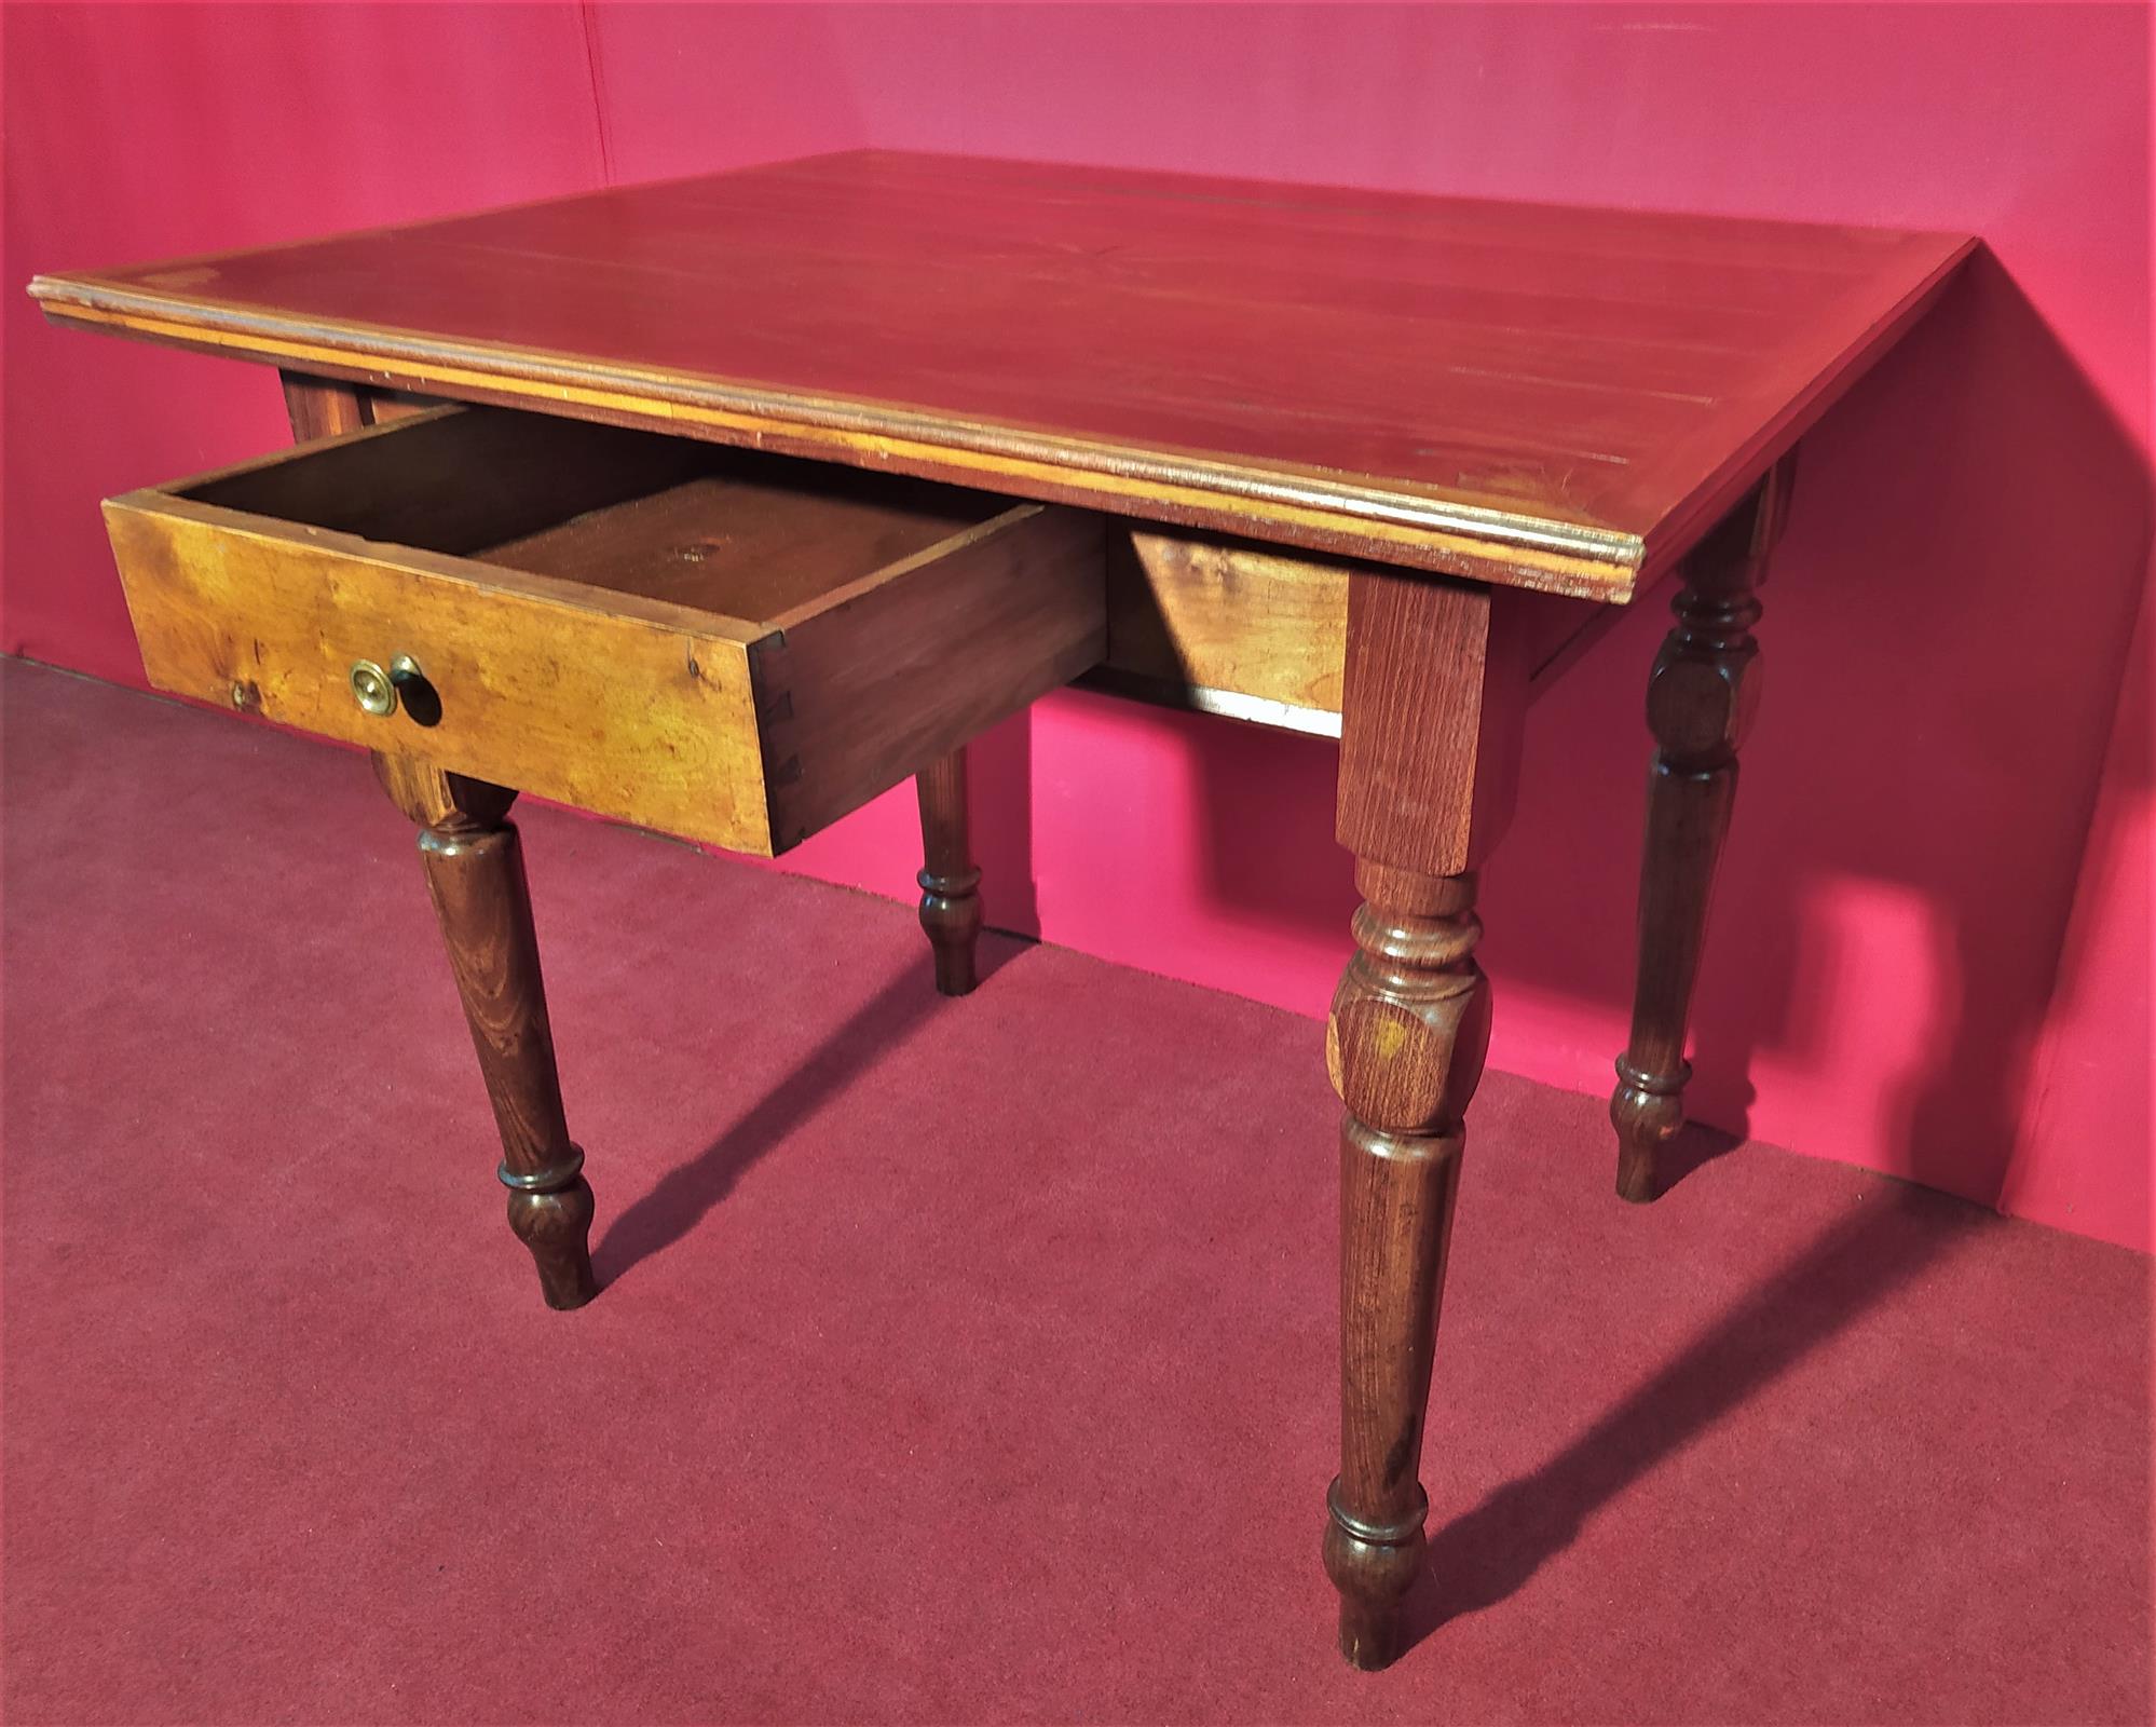
M 373 750 L 554 1307 L 595 1294 L 593 1197 L 520 789 L 776 854 L 912 774 L 964 994 L 968 737 L 1080 675 L 1339 735 L 1365 906 L 1326 1031 L 1324 1559 L 1341 1649 L 1382 1667 L 1490 1028 L 1475 871 L 1526 703 L 1682 578 L 1611 1110 L 1647 1199 L 1796 440 L 1973 246 L 849 153 L 30 291 L 282 369 L 298 451 L 106 507 L 142 660 Z

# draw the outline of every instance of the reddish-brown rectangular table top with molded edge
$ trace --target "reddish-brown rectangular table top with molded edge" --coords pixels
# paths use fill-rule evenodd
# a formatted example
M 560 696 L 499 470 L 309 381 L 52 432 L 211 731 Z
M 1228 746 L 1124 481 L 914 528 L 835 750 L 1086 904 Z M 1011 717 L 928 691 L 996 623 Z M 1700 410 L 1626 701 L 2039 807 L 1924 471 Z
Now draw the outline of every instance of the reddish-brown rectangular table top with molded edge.
M 298 371 L 1628 599 L 1973 248 L 854 151 L 30 291 Z

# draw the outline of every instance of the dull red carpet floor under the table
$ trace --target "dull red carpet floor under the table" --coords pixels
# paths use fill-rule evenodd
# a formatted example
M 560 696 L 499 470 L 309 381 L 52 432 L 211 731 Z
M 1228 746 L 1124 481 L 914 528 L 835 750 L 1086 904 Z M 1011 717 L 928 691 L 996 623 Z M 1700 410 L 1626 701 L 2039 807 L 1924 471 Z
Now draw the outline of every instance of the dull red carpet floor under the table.
M 11 1721 L 2147 1718 L 2137 1255 L 1490 1076 L 1363 1677 L 1315 1024 L 533 811 L 548 1313 L 364 763 L 4 724 Z

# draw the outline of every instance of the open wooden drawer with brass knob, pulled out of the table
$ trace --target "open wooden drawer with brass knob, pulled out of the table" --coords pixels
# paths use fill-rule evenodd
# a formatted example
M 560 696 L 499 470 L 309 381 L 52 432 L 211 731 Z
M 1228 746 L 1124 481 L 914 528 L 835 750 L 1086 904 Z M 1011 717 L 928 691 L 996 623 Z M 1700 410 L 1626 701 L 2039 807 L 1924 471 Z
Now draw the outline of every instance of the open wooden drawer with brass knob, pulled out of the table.
M 1084 511 L 492 407 L 106 522 L 160 690 L 765 856 L 1106 630 Z

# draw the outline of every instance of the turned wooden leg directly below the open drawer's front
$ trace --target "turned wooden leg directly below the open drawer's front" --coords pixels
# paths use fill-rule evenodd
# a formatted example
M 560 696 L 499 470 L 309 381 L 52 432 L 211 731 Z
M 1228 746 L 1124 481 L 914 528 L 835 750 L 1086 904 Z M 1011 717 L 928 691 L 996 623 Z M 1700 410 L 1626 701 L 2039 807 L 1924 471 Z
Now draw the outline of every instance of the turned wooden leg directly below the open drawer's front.
M 407 757 L 377 755 L 375 774 L 420 828 L 427 893 L 502 1134 L 509 1227 L 539 1263 L 545 1304 L 582 1307 L 597 1294 L 593 1201 L 561 1110 L 524 849 L 507 819 L 517 793 Z

